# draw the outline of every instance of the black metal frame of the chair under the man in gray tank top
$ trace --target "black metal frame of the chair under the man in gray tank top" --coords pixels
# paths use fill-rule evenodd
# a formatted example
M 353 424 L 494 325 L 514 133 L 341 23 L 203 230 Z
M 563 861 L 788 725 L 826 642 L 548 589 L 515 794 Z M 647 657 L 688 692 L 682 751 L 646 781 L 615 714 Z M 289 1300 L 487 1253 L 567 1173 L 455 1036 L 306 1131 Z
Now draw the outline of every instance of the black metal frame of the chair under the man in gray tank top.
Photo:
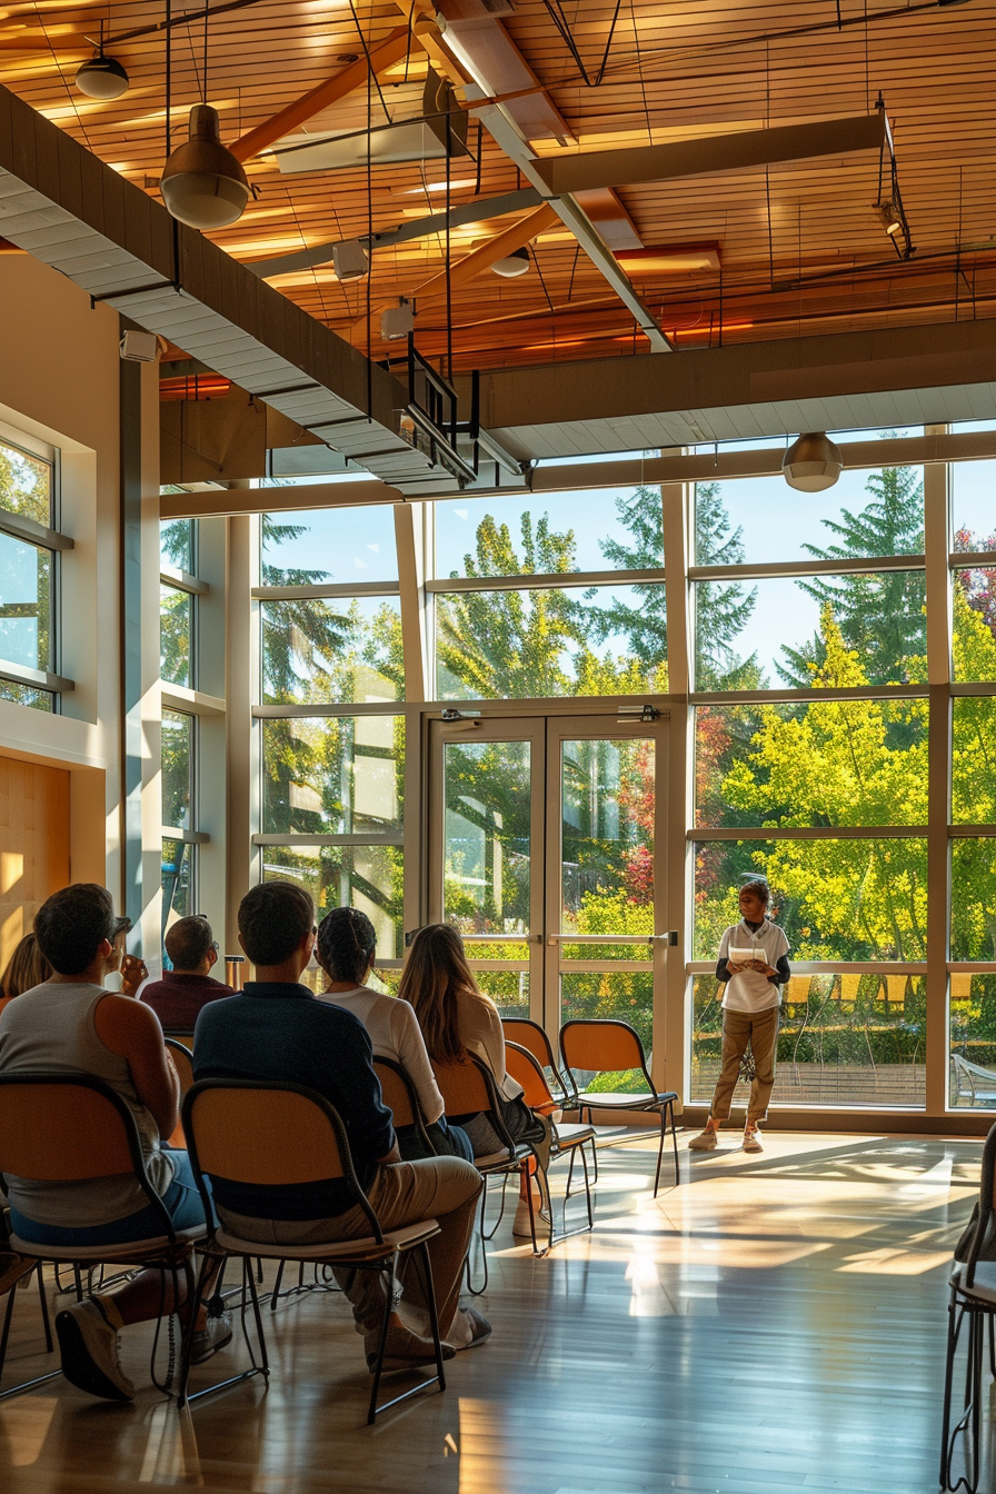
M 40 1270 L 45 1261 L 51 1261 L 57 1270 L 60 1264 L 70 1264 L 73 1267 L 78 1301 L 82 1301 L 84 1297 L 82 1282 L 79 1274 L 81 1264 L 91 1264 L 91 1265 L 130 1264 L 130 1265 L 148 1267 L 149 1270 L 158 1270 L 161 1285 L 160 1285 L 160 1312 L 155 1321 L 155 1336 L 152 1339 L 152 1355 L 151 1355 L 152 1383 L 155 1385 L 157 1389 L 163 1391 L 164 1395 L 170 1395 L 172 1379 L 173 1379 L 172 1328 L 170 1328 L 170 1363 L 166 1374 L 166 1382 L 160 1382 L 155 1376 L 155 1354 L 158 1349 L 160 1330 L 163 1325 L 163 1315 L 166 1310 L 166 1276 L 169 1274 L 172 1277 L 173 1303 L 176 1303 L 179 1297 L 179 1268 L 182 1267 L 184 1276 L 187 1279 L 187 1297 L 190 1300 L 190 1295 L 194 1289 L 194 1273 L 190 1264 L 190 1256 L 193 1247 L 196 1245 L 200 1245 L 200 1242 L 206 1236 L 206 1230 L 202 1227 L 199 1230 L 185 1230 L 178 1234 L 163 1200 L 155 1192 L 155 1188 L 152 1186 L 149 1176 L 145 1170 L 145 1158 L 142 1156 L 142 1141 L 139 1137 L 139 1128 L 136 1125 L 134 1116 L 128 1109 L 127 1103 L 122 1100 L 122 1097 L 116 1091 L 113 1091 L 109 1085 L 106 1085 L 102 1079 L 97 1079 L 93 1074 L 21 1070 L 16 1073 L 0 1074 L 0 1085 L 4 1088 L 7 1086 L 19 1088 L 30 1085 L 34 1086 L 72 1085 L 73 1088 L 78 1089 L 93 1089 L 94 1094 L 106 1100 L 116 1112 L 118 1119 L 121 1120 L 121 1125 L 124 1128 L 124 1135 L 128 1144 L 128 1153 L 131 1156 L 131 1167 L 134 1170 L 134 1177 L 139 1186 L 142 1188 L 142 1192 L 145 1194 L 146 1200 L 158 1215 L 158 1222 L 161 1225 L 161 1236 L 151 1237 L 148 1240 L 122 1242 L 118 1245 L 61 1246 L 61 1245 L 36 1245 L 31 1240 L 22 1240 L 19 1239 L 19 1236 L 12 1233 L 9 1245 L 10 1249 L 16 1250 L 19 1255 L 28 1255 L 37 1259 L 39 1286 L 42 1285 Z M 1 1173 L 0 1173 L 0 1183 L 4 1185 L 6 1191 L 6 1182 L 3 1180 Z M 43 1294 L 42 1294 L 42 1301 L 43 1301 L 46 1352 L 51 1352 L 52 1336 L 48 1324 L 48 1306 L 45 1304 Z M 4 1315 L 4 1325 L 3 1325 L 3 1337 L 0 1342 L 0 1373 L 3 1373 L 3 1363 L 7 1349 L 12 1315 L 13 1315 L 13 1289 L 9 1294 L 7 1310 Z M 170 1313 L 170 1319 L 172 1316 L 173 1313 Z M 190 1324 L 193 1322 L 194 1322 L 194 1313 L 191 1313 L 190 1316 Z M 182 1340 L 184 1340 L 182 1352 L 188 1352 L 191 1333 L 188 1331 L 182 1334 Z M 33 1389 L 36 1385 L 42 1385 L 45 1383 L 45 1380 L 51 1380 L 57 1374 L 61 1374 L 61 1370 L 52 1370 L 49 1374 L 43 1374 L 39 1379 L 25 1380 L 22 1385 L 12 1386 L 9 1391 L 4 1392 L 1 1398 L 19 1394 L 21 1391 Z

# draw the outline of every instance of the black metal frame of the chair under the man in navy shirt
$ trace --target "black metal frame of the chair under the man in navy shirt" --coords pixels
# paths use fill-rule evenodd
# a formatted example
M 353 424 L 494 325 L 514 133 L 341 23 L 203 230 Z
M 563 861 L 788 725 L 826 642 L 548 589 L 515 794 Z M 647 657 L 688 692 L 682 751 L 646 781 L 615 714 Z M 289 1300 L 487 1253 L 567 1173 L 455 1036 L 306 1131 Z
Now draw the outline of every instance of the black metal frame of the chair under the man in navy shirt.
M 184 1354 L 184 1363 L 182 1363 L 182 1367 L 181 1367 L 179 1404 L 184 1406 L 187 1403 L 193 1403 L 196 1400 L 200 1400 L 205 1395 L 212 1395 L 215 1391 L 227 1389 L 230 1385 L 237 1385 L 242 1380 L 248 1380 L 254 1374 L 263 1374 L 264 1379 L 269 1379 L 270 1367 L 269 1367 L 269 1357 L 267 1357 L 267 1352 L 266 1352 L 266 1334 L 263 1331 L 263 1316 L 260 1313 L 260 1298 L 258 1298 L 258 1294 L 257 1294 L 257 1289 L 255 1289 L 255 1280 L 254 1280 L 252 1268 L 251 1268 L 251 1262 L 254 1259 L 258 1259 L 258 1258 L 279 1259 L 281 1262 L 282 1261 L 288 1261 L 288 1259 L 290 1261 L 293 1261 L 293 1259 L 299 1259 L 299 1261 L 305 1259 L 305 1261 L 314 1261 L 317 1264 L 339 1265 L 339 1267 L 343 1267 L 343 1268 L 352 1270 L 352 1271 L 378 1271 L 378 1273 L 381 1273 L 384 1276 L 384 1280 L 385 1280 L 384 1322 L 381 1325 L 381 1339 L 379 1339 L 379 1345 L 378 1345 L 376 1366 L 375 1366 L 375 1370 L 373 1370 L 373 1388 L 370 1391 L 370 1404 L 369 1404 L 369 1409 L 367 1409 L 367 1425 L 372 1425 L 373 1421 L 376 1419 L 376 1416 L 381 1412 L 388 1410 L 391 1406 L 399 1406 L 402 1401 L 409 1400 L 412 1395 L 421 1394 L 423 1391 L 429 1389 L 429 1386 L 432 1386 L 432 1385 L 438 1383 L 441 1392 L 445 1391 L 446 1380 L 445 1380 L 443 1367 L 442 1367 L 443 1361 L 442 1361 L 442 1343 L 441 1343 L 441 1337 L 439 1337 L 439 1318 L 438 1318 L 438 1312 L 436 1312 L 436 1292 L 435 1292 L 435 1286 L 433 1286 L 432 1261 L 429 1258 L 429 1247 L 427 1247 L 427 1242 L 433 1237 L 433 1234 L 439 1233 L 439 1225 L 436 1225 L 435 1221 L 424 1221 L 424 1224 L 432 1224 L 433 1230 L 429 1234 L 424 1234 L 423 1237 L 414 1240 L 411 1245 L 400 1245 L 399 1246 L 397 1242 L 385 1240 L 384 1231 L 381 1230 L 381 1224 L 379 1224 L 379 1221 L 376 1218 L 373 1206 L 370 1204 L 370 1200 L 364 1194 L 363 1188 L 360 1186 L 360 1180 L 358 1180 L 358 1177 L 355 1174 L 355 1167 L 354 1167 L 354 1162 L 352 1162 L 352 1152 L 349 1149 L 349 1137 L 348 1137 L 346 1128 L 342 1123 L 342 1119 L 340 1119 L 339 1113 L 334 1110 L 334 1107 L 329 1104 L 329 1101 L 324 1098 L 324 1095 L 320 1095 L 314 1089 L 308 1089 L 305 1085 L 278 1083 L 275 1080 L 263 1080 L 263 1079 L 208 1079 L 208 1080 L 200 1080 L 184 1097 L 184 1131 L 187 1134 L 187 1150 L 188 1150 L 188 1155 L 190 1155 L 190 1161 L 191 1161 L 191 1167 L 193 1167 L 193 1171 L 194 1171 L 194 1177 L 197 1180 L 197 1188 L 200 1191 L 202 1200 L 205 1201 L 205 1207 L 208 1210 L 208 1218 L 209 1219 L 212 1219 L 214 1215 L 212 1215 L 212 1210 L 211 1210 L 211 1195 L 208 1192 L 208 1186 L 206 1186 L 206 1180 L 205 1180 L 205 1173 L 202 1171 L 200 1159 L 199 1159 L 199 1155 L 197 1155 L 197 1134 L 196 1134 L 196 1125 L 194 1125 L 194 1110 L 196 1110 L 199 1097 L 202 1094 L 208 1092 L 208 1091 L 212 1091 L 212 1089 L 254 1089 L 254 1091 L 261 1091 L 263 1089 L 263 1091 L 273 1091 L 273 1092 L 282 1092 L 282 1094 L 294 1094 L 294 1095 L 300 1095 L 302 1098 L 308 1100 L 312 1106 L 315 1106 L 315 1109 L 324 1116 L 324 1119 L 329 1123 L 329 1128 L 332 1129 L 332 1134 L 334 1137 L 336 1146 L 339 1149 L 339 1159 L 340 1159 L 340 1165 L 342 1165 L 343 1180 L 346 1182 L 349 1191 L 352 1192 L 352 1197 L 355 1198 L 355 1203 L 360 1206 L 360 1209 L 366 1215 L 366 1219 L 367 1219 L 367 1222 L 370 1225 L 370 1236 L 372 1236 L 372 1239 L 375 1242 L 375 1247 L 370 1249 L 370 1246 L 367 1245 L 361 1250 L 360 1249 L 349 1250 L 348 1246 L 349 1246 L 351 1242 L 348 1242 L 348 1240 L 336 1240 L 336 1242 L 330 1242 L 327 1250 L 323 1250 L 318 1246 L 293 1246 L 293 1245 L 273 1246 L 273 1245 L 264 1245 L 264 1243 L 255 1243 L 255 1242 L 237 1242 L 239 1245 L 245 1245 L 246 1249 L 245 1250 L 243 1249 L 233 1249 L 231 1247 L 231 1237 L 227 1234 L 227 1231 L 222 1227 L 215 1227 L 212 1224 L 208 1242 L 206 1242 L 206 1245 L 203 1247 L 203 1250 L 205 1250 L 205 1262 L 208 1261 L 209 1256 L 214 1256 L 215 1259 L 221 1259 L 221 1261 L 224 1261 L 230 1255 L 240 1255 L 242 1256 L 243 1291 L 245 1291 L 245 1286 L 248 1286 L 249 1297 L 251 1297 L 251 1301 L 252 1301 L 252 1312 L 254 1312 L 254 1318 L 255 1318 L 255 1328 L 257 1328 L 257 1336 L 258 1336 L 258 1342 L 260 1342 L 260 1363 L 257 1364 L 255 1354 L 252 1351 L 252 1346 L 249 1345 L 249 1357 L 251 1357 L 251 1361 L 252 1361 L 252 1367 L 249 1370 L 243 1371 L 242 1374 L 233 1376 L 231 1379 L 222 1380 L 220 1385 L 211 1385 L 206 1389 L 197 1391 L 194 1395 L 190 1395 L 188 1394 L 190 1348 L 187 1346 L 187 1352 Z M 388 1234 L 390 1234 L 390 1231 L 388 1231 Z M 378 1392 L 379 1392 L 379 1388 L 381 1388 L 381 1376 L 384 1373 L 384 1352 L 385 1352 L 385 1348 L 387 1348 L 387 1333 L 388 1333 L 390 1319 L 391 1319 L 391 1310 L 393 1310 L 394 1273 L 397 1270 L 397 1259 L 399 1259 L 399 1255 L 402 1253 L 402 1249 L 412 1249 L 415 1252 L 420 1270 L 423 1273 L 423 1283 L 424 1283 L 424 1291 L 426 1291 L 426 1303 L 427 1303 L 427 1309 L 429 1309 L 429 1321 L 430 1321 L 430 1328 L 432 1328 L 432 1339 L 433 1339 L 433 1345 L 436 1348 L 436 1373 L 430 1379 L 420 1380 L 418 1385 L 414 1385 L 411 1389 L 403 1391 L 400 1395 L 394 1395 L 391 1400 L 384 1401 L 382 1406 L 378 1406 L 376 1398 L 378 1398 Z M 197 1282 L 197 1289 L 196 1289 L 196 1295 L 194 1295 L 194 1312 L 197 1310 L 197 1306 L 200 1304 L 200 1297 L 202 1297 L 202 1292 L 203 1292 L 205 1279 L 206 1279 L 206 1265 L 205 1265 L 205 1270 L 202 1270 L 200 1279 Z M 245 1333 L 245 1297 L 243 1297 L 243 1333 Z M 246 1337 L 246 1343 L 249 1343 L 248 1333 L 245 1333 L 245 1337 Z

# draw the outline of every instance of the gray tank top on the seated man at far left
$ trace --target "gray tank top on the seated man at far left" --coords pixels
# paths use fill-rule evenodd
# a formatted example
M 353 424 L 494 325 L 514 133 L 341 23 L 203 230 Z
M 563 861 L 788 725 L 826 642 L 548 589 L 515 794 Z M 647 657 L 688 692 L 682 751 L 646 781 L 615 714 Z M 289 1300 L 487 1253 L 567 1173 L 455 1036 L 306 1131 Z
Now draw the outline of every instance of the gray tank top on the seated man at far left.
M 161 1197 L 173 1180 L 169 1153 L 160 1152 L 160 1134 L 151 1113 L 134 1092 L 128 1064 L 97 1037 L 94 1010 L 108 992 L 102 986 L 34 986 L 10 1001 L 0 1014 L 0 1073 L 19 1068 L 93 1074 L 127 1103 L 142 1140 L 149 1180 Z M 9 1201 L 36 1224 L 88 1230 L 124 1219 L 148 1204 L 139 1183 L 125 1174 L 78 1183 L 49 1183 L 6 1177 Z

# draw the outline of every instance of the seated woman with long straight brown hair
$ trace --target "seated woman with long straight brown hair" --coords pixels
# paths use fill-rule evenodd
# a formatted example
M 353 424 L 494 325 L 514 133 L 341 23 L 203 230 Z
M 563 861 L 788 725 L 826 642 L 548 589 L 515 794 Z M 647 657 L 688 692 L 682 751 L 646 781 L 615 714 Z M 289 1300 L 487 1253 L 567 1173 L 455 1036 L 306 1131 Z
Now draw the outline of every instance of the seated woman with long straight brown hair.
M 479 1058 L 494 1076 L 502 1119 L 514 1141 L 542 1140 L 548 1126 L 533 1115 L 523 1086 L 505 1070 L 505 1032 L 499 1010 L 479 989 L 463 940 L 449 923 L 430 923 L 412 940 L 402 974 L 399 996 L 411 1001 L 426 1038 L 429 1056 L 438 1064 L 460 1064 L 467 1053 Z M 487 1115 L 451 1118 L 467 1132 L 475 1156 L 503 1150 L 502 1138 Z

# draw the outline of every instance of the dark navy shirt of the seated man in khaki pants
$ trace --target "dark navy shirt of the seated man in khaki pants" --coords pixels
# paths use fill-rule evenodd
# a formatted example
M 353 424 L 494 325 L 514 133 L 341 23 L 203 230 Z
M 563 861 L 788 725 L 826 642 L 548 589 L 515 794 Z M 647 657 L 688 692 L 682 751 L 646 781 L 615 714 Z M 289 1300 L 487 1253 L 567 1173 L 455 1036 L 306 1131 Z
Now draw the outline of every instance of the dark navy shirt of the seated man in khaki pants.
M 317 1001 L 308 986 L 248 982 L 239 995 L 206 1005 L 194 1031 L 194 1079 L 269 1079 L 315 1089 L 342 1118 L 363 1188 L 394 1144 L 366 1028 L 351 1011 Z M 217 1179 L 214 1197 L 222 1209 L 270 1219 L 326 1219 L 354 1203 L 342 1179 L 270 1188 Z

